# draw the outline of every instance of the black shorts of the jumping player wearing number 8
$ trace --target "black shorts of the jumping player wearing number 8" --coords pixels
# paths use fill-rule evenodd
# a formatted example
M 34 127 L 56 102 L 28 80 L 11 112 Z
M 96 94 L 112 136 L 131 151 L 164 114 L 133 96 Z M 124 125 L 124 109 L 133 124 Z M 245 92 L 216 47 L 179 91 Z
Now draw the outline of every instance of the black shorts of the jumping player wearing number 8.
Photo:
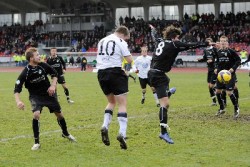
M 155 88 L 159 99 L 168 97 L 167 91 L 169 90 L 170 79 L 164 72 L 149 70 L 148 79 L 150 85 Z

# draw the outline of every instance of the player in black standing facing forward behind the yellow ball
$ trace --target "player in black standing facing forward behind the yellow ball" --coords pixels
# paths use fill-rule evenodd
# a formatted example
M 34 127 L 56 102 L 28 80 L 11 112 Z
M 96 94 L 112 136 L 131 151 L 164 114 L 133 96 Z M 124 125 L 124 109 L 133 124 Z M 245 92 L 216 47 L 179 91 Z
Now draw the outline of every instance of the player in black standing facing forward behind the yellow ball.
M 239 117 L 240 108 L 238 104 L 238 89 L 235 87 L 236 83 L 236 69 L 241 64 L 241 59 L 239 55 L 228 47 L 228 38 L 226 36 L 220 37 L 220 45 L 221 48 L 217 51 L 216 57 L 216 67 L 215 73 L 219 73 L 221 70 L 228 70 L 232 75 L 232 79 L 229 83 L 221 83 L 216 81 L 216 96 L 218 99 L 218 103 L 220 104 L 220 108 L 216 113 L 217 116 L 225 113 L 225 105 L 221 98 L 222 89 L 226 89 L 227 95 L 230 97 L 233 105 L 234 105 L 234 119 Z

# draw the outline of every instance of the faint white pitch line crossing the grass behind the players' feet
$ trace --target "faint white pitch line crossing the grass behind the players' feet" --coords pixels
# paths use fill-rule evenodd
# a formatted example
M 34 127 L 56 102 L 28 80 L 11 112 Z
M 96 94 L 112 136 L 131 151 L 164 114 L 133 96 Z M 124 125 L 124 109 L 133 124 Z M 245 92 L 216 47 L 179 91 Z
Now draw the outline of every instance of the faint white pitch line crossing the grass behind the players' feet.
M 246 98 L 240 98 L 240 101 L 245 101 L 245 100 L 249 100 L 250 97 L 246 97 Z M 197 105 L 197 106 L 193 106 L 193 107 L 179 107 L 179 108 L 175 108 L 173 110 L 170 109 L 170 111 L 174 112 L 174 111 L 177 111 L 177 110 L 191 110 L 193 108 L 197 108 L 197 107 L 205 107 L 205 106 L 208 106 L 207 104 L 206 105 Z M 143 117 L 149 117 L 153 114 L 156 114 L 154 112 L 150 113 L 150 114 L 147 114 L 147 115 L 143 115 L 143 116 L 131 116 L 131 117 L 128 117 L 129 119 L 137 119 L 137 118 L 143 118 Z M 95 127 L 95 126 L 100 126 L 100 124 L 90 124 L 90 125 L 84 125 L 84 126 L 78 126 L 78 127 L 75 127 L 75 128 L 68 128 L 69 130 L 79 130 L 79 129 L 85 129 L 85 128 L 90 128 L 90 127 Z M 49 134 L 53 134 L 53 133 L 59 133 L 61 132 L 62 130 L 58 129 L 58 130 L 53 130 L 53 131 L 46 131 L 46 132 L 42 132 L 40 133 L 40 136 L 42 135 L 49 135 Z M 32 138 L 33 135 L 18 135 L 18 136 L 15 136 L 15 137 L 12 137 L 12 138 L 3 138 L 3 139 L 0 139 L 0 142 L 8 142 L 10 140 L 17 140 L 17 139 L 23 139 L 23 138 Z

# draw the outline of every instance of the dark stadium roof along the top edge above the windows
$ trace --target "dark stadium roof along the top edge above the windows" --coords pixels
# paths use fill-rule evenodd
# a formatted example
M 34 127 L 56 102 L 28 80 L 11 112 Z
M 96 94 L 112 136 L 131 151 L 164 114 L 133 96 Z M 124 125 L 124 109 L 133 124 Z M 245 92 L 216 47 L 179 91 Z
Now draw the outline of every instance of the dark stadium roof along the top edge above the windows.
M 32 13 L 32 12 L 49 12 L 51 8 L 59 8 L 62 3 L 67 6 L 73 4 L 75 8 L 89 0 L 1 0 L 0 14 L 10 13 Z M 195 4 L 195 3 L 213 3 L 213 2 L 250 2 L 250 0 L 92 0 L 95 2 L 106 2 L 112 8 L 144 5 L 174 5 L 178 3 Z

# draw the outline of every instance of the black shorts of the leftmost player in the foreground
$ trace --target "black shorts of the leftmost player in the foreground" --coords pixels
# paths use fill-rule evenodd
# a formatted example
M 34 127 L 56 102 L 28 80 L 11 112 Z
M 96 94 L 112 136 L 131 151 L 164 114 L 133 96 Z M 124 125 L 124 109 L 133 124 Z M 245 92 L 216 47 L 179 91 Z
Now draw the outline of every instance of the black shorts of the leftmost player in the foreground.
M 30 95 L 29 100 L 31 103 L 32 112 L 40 111 L 42 112 L 43 107 L 48 107 L 49 112 L 61 112 L 61 106 L 57 100 L 57 96 L 39 96 Z

